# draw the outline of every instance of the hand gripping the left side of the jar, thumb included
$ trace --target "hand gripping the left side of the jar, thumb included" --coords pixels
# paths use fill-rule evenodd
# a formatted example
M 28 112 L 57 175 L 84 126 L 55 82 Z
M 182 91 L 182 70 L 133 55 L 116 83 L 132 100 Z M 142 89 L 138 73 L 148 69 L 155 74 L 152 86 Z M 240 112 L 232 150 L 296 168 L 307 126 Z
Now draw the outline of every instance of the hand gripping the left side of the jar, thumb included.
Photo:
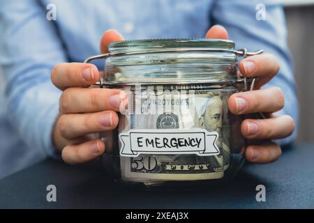
M 100 41 L 100 51 L 107 52 L 111 42 L 120 40 L 123 38 L 117 31 L 106 31 Z M 53 141 L 69 164 L 88 162 L 110 151 L 111 143 L 105 144 L 94 133 L 117 127 L 117 112 L 127 95 L 119 89 L 80 87 L 96 83 L 100 75 L 96 66 L 89 63 L 60 63 L 52 70 L 52 83 L 63 91 Z

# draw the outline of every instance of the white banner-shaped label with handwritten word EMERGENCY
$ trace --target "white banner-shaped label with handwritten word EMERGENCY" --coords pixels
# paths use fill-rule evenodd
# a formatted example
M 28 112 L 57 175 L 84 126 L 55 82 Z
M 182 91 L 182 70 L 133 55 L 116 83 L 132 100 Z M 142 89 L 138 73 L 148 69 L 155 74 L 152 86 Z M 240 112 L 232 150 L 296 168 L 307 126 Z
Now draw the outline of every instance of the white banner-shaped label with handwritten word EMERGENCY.
M 218 132 L 191 130 L 130 130 L 119 134 L 120 155 L 137 157 L 140 154 L 218 155 Z

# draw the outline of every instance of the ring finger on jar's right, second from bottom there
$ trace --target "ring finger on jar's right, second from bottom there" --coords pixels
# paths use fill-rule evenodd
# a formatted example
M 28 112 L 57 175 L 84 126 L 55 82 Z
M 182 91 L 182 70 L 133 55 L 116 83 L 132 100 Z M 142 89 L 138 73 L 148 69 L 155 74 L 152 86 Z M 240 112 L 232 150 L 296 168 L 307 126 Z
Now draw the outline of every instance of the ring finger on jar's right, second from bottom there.
M 294 130 L 290 116 L 266 119 L 246 119 L 241 123 L 241 133 L 248 139 L 283 139 Z

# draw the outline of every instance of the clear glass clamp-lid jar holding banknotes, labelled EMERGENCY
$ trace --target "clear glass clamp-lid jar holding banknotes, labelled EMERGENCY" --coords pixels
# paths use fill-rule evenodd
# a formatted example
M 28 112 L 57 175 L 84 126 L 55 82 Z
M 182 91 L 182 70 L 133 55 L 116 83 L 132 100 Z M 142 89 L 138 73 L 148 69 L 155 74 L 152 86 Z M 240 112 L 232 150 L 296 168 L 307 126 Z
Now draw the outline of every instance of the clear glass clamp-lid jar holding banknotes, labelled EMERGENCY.
M 230 179 L 246 148 L 241 116 L 227 100 L 253 79 L 238 77 L 234 42 L 213 39 L 124 40 L 112 43 L 97 84 L 128 95 L 103 155 L 115 180 L 144 187 L 193 188 Z M 252 86 L 252 84 L 251 84 Z

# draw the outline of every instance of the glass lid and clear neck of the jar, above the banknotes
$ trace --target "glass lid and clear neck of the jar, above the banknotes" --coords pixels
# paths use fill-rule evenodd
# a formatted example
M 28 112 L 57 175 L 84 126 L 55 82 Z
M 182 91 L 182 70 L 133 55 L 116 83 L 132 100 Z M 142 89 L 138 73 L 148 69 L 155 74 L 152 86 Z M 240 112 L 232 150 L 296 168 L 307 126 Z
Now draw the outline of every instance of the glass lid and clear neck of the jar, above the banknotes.
M 112 43 L 109 52 L 105 82 L 111 84 L 231 84 L 237 80 L 232 40 L 123 40 Z

